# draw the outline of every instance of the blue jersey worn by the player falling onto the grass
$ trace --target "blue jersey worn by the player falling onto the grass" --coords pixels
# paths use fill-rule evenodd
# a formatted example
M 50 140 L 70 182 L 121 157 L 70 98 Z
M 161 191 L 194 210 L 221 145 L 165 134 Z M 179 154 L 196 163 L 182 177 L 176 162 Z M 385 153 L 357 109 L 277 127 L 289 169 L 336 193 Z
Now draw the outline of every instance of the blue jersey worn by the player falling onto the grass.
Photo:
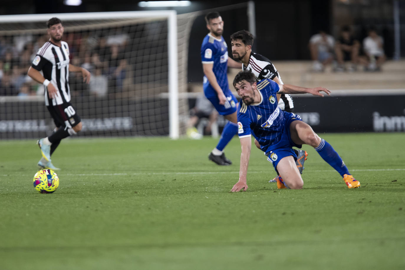
M 289 113 L 281 111 L 277 106 L 278 84 L 264 79 L 258 82 L 257 89 L 262 96 L 259 104 L 246 105 L 243 100 L 239 102 L 239 138 L 253 134 L 265 153 L 280 147 L 290 147 L 290 142 L 282 136 L 288 117 L 286 114 Z

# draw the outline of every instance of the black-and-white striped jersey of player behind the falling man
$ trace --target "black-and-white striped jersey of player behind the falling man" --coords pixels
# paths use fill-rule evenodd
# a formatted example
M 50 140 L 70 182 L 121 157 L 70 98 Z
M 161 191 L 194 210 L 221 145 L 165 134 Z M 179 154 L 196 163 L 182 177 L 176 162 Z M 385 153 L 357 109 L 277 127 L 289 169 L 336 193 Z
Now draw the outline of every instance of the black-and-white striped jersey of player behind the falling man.
M 280 74 L 278 73 L 273 63 L 271 63 L 269 59 L 258 53 L 250 53 L 249 64 L 247 66 L 243 64 L 242 70 L 252 71 L 258 81 L 261 81 L 263 79 L 273 80 L 277 76 L 280 83 L 283 84 Z M 292 112 L 292 109 L 294 108 L 294 101 L 289 94 L 281 94 L 278 106 L 281 110 Z

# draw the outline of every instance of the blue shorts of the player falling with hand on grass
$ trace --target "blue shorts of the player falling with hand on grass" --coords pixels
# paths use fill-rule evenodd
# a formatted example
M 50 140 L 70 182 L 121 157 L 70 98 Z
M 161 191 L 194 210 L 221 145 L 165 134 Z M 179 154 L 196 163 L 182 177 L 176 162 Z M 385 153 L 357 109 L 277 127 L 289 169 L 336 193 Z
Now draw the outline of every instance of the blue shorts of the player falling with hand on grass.
M 273 164 L 274 169 L 276 170 L 277 174 L 277 164 L 283 157 L 288 157 L 289 155 L 292 155 L 294 157 L 294 160 L 297 161 L 297 155 L 295 154 L 294 149 L 292 147 L 297 147 L 301 148 L 302 145 L 297 145 L 295 144 L 292 139 L 291 139 L 291 133 L 290 133 L 290 125 L 293 121 L 302 121 L 301 116 L 296 115 L 294 113 L 287 113 L 283 112 L 285 116 L 285 125 L 284 125 L 284 130 L 283 133 L 281 134 L 281 140 L 277 143 L 277 145 L 280 145 L 280 147 L 274 148 L 268 153 L 267 155 L 267 160 Z

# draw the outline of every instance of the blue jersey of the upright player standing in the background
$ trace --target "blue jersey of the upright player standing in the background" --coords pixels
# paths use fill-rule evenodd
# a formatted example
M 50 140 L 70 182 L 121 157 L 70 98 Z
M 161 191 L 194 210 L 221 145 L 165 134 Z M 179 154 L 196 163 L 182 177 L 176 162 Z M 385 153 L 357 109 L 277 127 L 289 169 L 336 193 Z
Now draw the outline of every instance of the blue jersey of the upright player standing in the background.
M 213 64 L 212 70 L 222 91 L 228 90 L 228 46 L 224 38 L 218 39 L 211 36 L 211 34 L 207 34 L 201 45 L 201 60 L 203 64 Z M 209 82 L 207 77 L 204 76 L 204 86 L 206 85 L 209 85 Z M 215 92 L 215 90 L 213 91 Z M 216 96 L 216 92 L 214 94 Z

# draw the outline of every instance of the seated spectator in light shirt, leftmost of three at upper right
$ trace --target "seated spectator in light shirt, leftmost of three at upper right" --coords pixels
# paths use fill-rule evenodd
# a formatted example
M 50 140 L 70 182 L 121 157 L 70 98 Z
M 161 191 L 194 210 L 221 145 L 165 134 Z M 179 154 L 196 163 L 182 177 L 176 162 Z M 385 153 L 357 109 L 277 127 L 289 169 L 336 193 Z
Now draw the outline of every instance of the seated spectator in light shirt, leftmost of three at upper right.
M 311 36 L 309 51 L 311 52 L 311 59 L 313 61 L 313 71 L 323 71 L 326 65 L 332 63 L 334 45 L 335 39 L 333 36 L 326 34 L 323 30 Z

